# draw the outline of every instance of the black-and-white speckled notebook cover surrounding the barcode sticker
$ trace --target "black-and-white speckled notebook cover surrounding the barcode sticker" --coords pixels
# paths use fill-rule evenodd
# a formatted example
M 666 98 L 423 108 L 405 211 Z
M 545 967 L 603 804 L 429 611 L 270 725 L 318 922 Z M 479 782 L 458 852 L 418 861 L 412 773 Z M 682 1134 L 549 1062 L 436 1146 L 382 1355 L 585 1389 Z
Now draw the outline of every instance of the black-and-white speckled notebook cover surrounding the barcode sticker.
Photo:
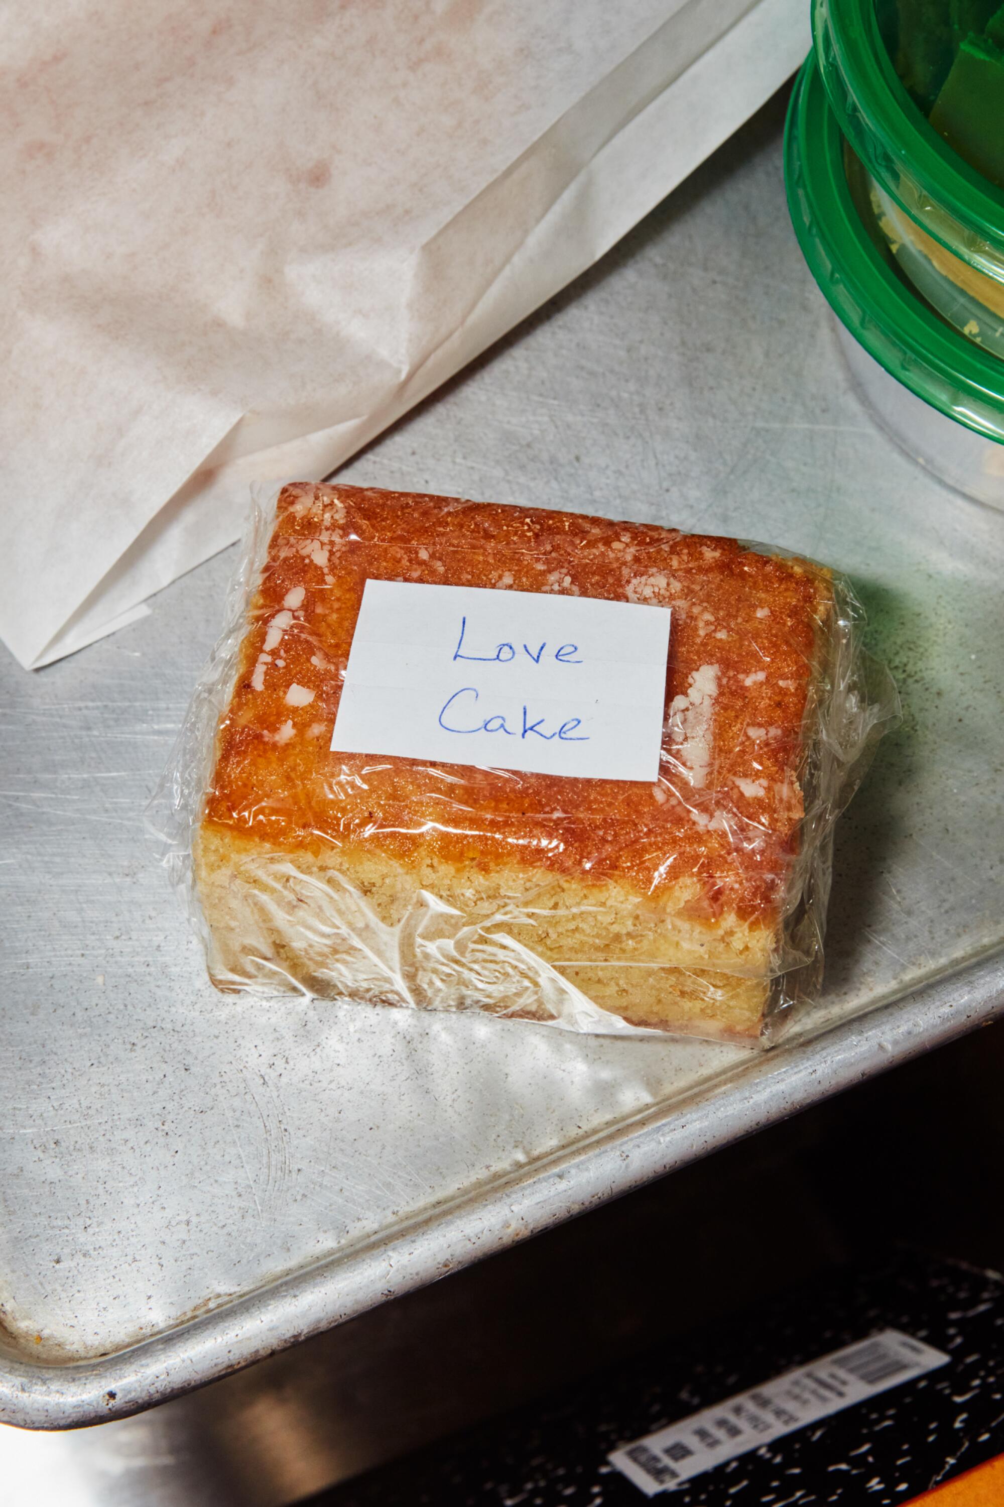
M 315 1507 L 638 1507 L 645 1495 L 611 1466 L 609 1451 L 885 1328 L 923 1338 L 947 1365 L 657 1499 L 674 1507 L 917 1501 L 999 1453 L 1004 1288 L 993 1273 L 906 1254 L 702 1332 L 681 1353 L 648 1352 L 562 1397 L 348 1481 Z

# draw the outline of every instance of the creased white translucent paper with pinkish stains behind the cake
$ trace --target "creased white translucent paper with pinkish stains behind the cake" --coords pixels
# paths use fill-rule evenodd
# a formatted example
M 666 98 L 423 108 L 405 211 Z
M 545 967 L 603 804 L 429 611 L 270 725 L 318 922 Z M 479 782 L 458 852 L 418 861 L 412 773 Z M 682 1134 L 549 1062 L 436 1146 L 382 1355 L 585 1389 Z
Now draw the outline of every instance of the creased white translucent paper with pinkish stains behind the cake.
M 603 255 L 805 0 L 42 0 L 0 20 L 0 634 L 69 654 Z

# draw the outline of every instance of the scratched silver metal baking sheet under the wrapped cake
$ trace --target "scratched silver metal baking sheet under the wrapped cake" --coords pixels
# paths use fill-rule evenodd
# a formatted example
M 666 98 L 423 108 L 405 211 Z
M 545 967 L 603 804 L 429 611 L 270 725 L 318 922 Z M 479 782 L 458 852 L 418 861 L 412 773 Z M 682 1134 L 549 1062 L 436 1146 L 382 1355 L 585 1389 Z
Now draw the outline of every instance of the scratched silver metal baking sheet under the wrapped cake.
M 134 1412 L 1004 1010 L 1004 515 L 850 390 L 779 115 L 342 473 L 847 570 L 906 719 L 843 820 L 826 995 L 767 1055 L 223 998 L 142 811 L 231 558 L 0 662 L 0 1418 Z

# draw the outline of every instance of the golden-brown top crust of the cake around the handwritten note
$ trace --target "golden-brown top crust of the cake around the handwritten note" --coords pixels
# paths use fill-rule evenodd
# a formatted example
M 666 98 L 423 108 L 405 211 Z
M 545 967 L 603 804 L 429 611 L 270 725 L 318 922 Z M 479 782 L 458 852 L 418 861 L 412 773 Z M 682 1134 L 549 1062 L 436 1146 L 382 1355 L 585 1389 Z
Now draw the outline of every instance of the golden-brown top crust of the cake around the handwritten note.
M 672 607 L 656 784 L 330 752 L 363 585 Z M 802 817 L 826 571 L 733 540 L 541 508 L 285 487 L 222 719 L 205 820 L 276 848 L 519 865 L 770 921 Z

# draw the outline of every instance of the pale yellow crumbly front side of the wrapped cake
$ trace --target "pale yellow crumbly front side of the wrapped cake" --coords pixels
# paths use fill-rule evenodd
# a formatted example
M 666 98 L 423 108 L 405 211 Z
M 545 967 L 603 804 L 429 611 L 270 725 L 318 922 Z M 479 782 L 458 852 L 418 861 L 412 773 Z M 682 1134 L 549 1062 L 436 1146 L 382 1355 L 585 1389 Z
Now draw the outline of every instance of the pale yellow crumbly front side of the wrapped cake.
M 763 966 L 769 936 L 754 952 L 760 971 L 751 963 L 737 972 L 704 966 L 707 948 L 695 949 L 693 928 L 675 958 L 662 936 L 659 961 L 624 961 L 605 955 L 617 928 L 609 909 L 597 906 L 595 943 L 589 945 L 580 916 L 576 940 L 583 955 L 568 958 L 555 955 L 567 934 L 538 927 L 534 918 L 520 924 L 516 903 L 510 916 L 496 906 L 485 918 L 413 885 L 407 910 L 384 921 L 368 882 L 368 871 L 342 850 L 321 857 L 277 853 L 243 833 L 204 826 L 194 888 L 211 981 L 225 993 L 253 989 L 473 1010 L 601 1034 L 656 1031 L 748 1044 L 761 1037 L 775 993 Z M 743 925 L 727 916 L 722 931 L 731 936 Z

